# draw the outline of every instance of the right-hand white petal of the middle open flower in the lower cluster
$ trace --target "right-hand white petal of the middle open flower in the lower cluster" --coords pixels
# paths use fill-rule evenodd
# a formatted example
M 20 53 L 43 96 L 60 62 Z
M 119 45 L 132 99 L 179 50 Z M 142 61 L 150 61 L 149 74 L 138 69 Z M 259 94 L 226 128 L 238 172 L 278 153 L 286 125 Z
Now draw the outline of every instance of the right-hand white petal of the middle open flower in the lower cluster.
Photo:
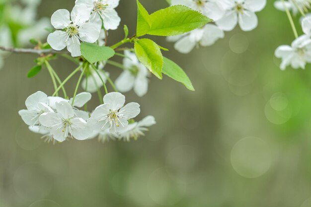
M 86 140 L 91 131 L 86 127 L 86 121 L 82 118 L 73 118 L 71 120 L 72 123 L 72 135 L 77 140 Z

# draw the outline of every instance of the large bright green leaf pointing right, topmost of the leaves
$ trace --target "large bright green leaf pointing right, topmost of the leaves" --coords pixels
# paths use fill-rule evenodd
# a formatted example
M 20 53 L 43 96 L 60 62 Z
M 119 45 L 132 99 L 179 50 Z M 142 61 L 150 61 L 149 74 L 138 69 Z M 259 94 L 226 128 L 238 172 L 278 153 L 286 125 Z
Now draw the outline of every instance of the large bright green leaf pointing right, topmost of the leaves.
M 184 5 L 174 5 L 150 15 L 151 28 L 147 34 L 157 36 L 181 35 L 200 28 L 212 20 Z

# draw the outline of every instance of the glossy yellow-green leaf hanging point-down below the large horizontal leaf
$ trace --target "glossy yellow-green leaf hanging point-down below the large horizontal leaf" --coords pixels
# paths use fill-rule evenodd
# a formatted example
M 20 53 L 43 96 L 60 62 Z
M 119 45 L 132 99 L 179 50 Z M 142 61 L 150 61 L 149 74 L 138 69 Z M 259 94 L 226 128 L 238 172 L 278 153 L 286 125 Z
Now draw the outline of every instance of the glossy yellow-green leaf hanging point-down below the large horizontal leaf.
M 135 42 L 134 50 L 139 61 L 162 79 L 163 56 L 158 45 L 150 39 L 140 39 Z

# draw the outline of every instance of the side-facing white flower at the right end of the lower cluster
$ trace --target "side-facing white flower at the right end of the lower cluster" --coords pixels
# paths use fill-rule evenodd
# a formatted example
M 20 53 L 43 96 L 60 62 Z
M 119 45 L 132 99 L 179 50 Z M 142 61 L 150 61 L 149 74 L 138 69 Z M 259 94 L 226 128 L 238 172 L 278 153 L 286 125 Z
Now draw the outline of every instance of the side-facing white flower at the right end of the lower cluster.
M 147 127 L 156 124 L 154 116 L 147 116 L 143 120 L 129 124 L 125 131 L 120 132 L 120 139 L 130 142 L 130 139 L 137 140 L 139 136 L 145 136 L 144 132 L 148 131 Z

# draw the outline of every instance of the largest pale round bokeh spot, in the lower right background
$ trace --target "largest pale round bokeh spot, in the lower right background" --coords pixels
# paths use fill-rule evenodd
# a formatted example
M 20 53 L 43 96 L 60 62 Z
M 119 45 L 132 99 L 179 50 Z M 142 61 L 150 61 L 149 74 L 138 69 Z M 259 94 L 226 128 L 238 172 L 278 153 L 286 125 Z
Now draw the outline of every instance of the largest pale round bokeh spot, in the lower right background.
M 246 178 L 256 178 L 266 173 L 272 163 L 272 152 L 262 139 L 248 137 L 238 141 L 231 152 L 233 169 Z

